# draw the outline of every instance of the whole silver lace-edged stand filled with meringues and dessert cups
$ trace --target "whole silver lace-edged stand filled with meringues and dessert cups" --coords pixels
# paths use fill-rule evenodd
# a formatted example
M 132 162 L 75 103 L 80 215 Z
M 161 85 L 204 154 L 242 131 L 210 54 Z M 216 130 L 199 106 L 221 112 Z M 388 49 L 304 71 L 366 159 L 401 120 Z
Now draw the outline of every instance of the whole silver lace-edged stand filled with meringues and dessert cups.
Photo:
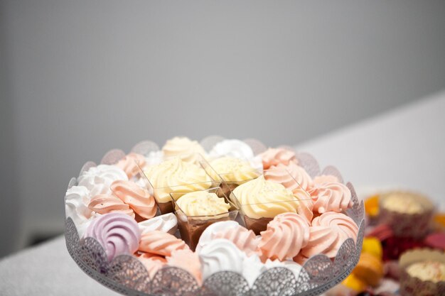
M 70 180 L 65 216 L 70 256 L 124 295 L 320 295 L 365 234 L 336 168 L 220 136 L 110 150 Z

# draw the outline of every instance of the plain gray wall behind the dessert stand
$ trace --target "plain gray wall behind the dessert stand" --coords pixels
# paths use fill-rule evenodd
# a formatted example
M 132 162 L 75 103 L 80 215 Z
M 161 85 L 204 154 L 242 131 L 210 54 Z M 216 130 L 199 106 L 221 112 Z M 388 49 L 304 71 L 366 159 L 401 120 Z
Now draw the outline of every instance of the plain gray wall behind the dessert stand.
M 295 144 L 445 87 L 445 1 L 14 0 L 1 10 L 1 132 L 14 159 L 1 179 L 14 182 L 0 226 L 18 223 L 13 247 L 61 229 L 68 180 L 109 148 L 215 133 Z

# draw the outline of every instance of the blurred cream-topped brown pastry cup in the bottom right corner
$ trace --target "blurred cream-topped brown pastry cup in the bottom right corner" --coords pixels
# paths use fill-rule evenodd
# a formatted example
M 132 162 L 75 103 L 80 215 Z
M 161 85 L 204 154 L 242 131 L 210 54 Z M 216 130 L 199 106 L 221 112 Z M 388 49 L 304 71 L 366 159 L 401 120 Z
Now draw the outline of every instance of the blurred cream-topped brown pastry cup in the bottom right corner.
M 445 253 L 431 249 L 407 251 L 400 256 L 400 295 L 445 295 Z

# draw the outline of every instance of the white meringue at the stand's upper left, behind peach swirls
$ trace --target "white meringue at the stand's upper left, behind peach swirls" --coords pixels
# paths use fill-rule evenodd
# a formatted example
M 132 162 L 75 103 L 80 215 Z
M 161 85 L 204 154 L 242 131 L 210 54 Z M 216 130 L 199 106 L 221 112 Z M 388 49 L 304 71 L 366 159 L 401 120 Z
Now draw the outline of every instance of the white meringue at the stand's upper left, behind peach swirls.
M 97 194 L 111 194 L 109 185 L 116 180 L 128 180 L 127 174 L 116 165 L 97 165 L 77 178 L 78 185 L 87 187 L 90 196 Z

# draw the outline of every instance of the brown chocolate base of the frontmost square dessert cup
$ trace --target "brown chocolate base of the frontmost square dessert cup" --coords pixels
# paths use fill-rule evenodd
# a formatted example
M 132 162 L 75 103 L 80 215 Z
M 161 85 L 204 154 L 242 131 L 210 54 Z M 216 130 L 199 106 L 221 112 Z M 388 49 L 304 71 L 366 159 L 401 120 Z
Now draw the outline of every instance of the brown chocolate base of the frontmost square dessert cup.
M 188 244 L 192 251 L 195 251 L 201 234 L 203 234 L 208 226 L 227 220 L 230 220 L 228 215 L 218 219 L 188 219 L 186 221 L 178 217 L 178 229 L 181 234 L 181 239 Z

